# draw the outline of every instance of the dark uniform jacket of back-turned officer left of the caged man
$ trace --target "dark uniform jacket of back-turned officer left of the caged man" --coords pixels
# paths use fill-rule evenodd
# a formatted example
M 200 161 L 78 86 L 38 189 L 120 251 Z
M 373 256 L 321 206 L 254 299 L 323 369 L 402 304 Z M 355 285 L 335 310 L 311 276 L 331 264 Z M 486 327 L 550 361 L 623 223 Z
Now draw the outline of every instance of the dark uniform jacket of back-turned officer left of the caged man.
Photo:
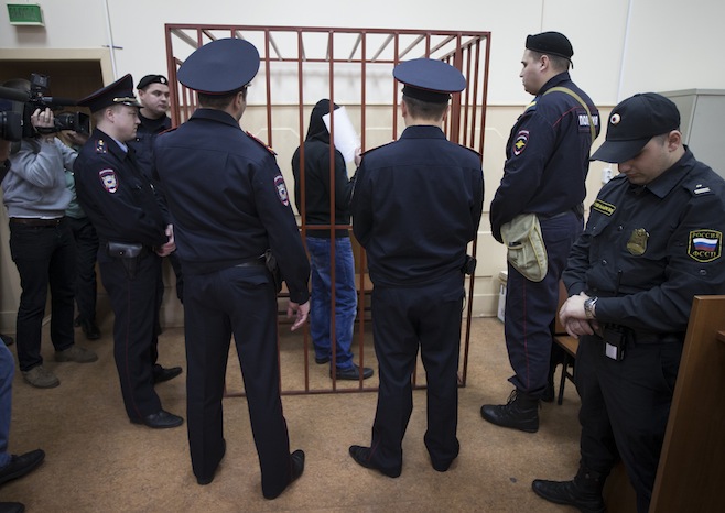
M 228 113 L 197 109 L 159 135 L 155 173 L 184 273 L 218 271 L 272 250 L 290 298 L 309 298 L 307 260 L 274 152 Z

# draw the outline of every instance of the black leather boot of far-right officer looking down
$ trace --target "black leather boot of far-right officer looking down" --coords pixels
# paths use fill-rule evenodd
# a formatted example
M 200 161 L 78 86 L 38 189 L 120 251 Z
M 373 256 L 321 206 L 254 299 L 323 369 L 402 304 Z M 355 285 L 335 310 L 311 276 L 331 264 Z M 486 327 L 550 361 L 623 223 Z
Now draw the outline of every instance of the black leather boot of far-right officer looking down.
M 605 480 L 605 474 L 580 467 L 572 481 L 535 479 L 531 483 L 531 489 L 549 502 L 574 506 L 582 513 L 604 513 L 606 509 L 602 499 L 602 489 Z

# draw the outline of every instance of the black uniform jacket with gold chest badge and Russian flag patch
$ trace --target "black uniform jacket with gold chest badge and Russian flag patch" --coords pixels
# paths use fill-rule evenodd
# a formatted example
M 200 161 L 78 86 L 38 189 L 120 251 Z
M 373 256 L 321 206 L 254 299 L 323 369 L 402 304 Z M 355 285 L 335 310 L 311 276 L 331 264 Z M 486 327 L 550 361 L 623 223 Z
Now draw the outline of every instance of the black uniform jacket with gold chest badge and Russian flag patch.
M 562 277 L 602 323 L 684 336 L 693 296 L 725 294 L 724 232 L 725 181 L 688 150 L 646 186 L 602 188 Z

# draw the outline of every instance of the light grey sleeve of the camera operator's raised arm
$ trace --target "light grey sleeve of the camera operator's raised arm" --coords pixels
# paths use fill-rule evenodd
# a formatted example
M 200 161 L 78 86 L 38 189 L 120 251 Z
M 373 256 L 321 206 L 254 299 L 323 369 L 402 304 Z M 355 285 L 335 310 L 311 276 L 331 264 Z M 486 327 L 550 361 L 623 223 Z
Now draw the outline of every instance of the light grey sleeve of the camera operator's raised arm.
M 12 172 L 41 189 L 53 189 L 58 183 L 65 184 L 64 154 L 55 141 L 23 140 L 20 151 L 10 155 Z

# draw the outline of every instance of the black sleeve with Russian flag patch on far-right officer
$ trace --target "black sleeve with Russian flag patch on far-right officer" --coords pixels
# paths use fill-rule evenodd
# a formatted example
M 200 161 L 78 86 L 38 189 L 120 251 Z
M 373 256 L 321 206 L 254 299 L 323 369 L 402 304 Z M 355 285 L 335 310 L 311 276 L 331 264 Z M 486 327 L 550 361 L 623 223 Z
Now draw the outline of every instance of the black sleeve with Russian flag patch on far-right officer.
M 693 198 L 683 214 L 668 239 L 666 280 L 636 294 L 599 298 L 598 320 L 653 331 L 684 331 L 695 295 L 725 294 L 722 199 L 715 194 Z M 715 250 L 699 251 L 699 243 Z

